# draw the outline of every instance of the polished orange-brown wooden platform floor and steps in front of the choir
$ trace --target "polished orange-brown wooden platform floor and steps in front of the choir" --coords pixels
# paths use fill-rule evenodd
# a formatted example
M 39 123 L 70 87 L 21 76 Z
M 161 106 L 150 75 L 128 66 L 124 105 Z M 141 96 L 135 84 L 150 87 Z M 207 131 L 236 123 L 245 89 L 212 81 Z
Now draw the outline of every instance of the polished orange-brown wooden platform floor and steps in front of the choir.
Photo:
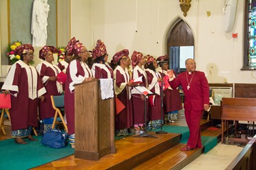
M 218 137 L 217 131 L 207 129 L 210 122 L 201 120 L 201 135 Z M 169 125 L 186 126 L 184 114 L 179 120 Z M 0 140 L 10 139 L 10 126 L 5 126 L 7 135 L 0 133 Z M 177 133 L 156 134 L 148 132 L 152 137 L 125 137 L 115 141 L 116 154 L 108 154 L 98 161 L 74 158 L 74 155 L 55 160 L 34 169 L 182 169 L 203 153 L 202 149 L 181 152 L 181 135 Z

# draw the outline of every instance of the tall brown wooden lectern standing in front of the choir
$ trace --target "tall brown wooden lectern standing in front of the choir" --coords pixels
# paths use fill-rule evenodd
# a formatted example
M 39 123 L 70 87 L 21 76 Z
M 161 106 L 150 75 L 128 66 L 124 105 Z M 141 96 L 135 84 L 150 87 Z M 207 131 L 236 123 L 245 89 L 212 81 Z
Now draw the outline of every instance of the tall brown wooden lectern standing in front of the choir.
M 75 158 L 115 153 L 114 98 L 101 98 L 100 80 L 74 85 Z

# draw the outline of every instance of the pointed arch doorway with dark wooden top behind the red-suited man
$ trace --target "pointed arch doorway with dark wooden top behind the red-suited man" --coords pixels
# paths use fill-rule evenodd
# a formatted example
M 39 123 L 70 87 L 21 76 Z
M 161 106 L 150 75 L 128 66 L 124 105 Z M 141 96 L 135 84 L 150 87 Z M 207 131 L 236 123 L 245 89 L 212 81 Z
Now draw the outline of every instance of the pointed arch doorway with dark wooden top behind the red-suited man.
M 167 34 L 167 54 L 169 55 L 169 68 L 176 73 L 186 71 L 185 61 L 194 58 L 195 40 L 188 24 L 177 18 Z

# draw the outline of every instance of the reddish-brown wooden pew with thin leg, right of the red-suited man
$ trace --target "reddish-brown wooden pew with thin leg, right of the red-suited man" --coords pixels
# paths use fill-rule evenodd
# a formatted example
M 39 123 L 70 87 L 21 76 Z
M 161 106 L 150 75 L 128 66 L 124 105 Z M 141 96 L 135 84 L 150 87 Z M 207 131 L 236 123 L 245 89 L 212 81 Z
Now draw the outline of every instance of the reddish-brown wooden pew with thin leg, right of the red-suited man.
M 221 143 L 226 120 L 256 121 L 255 98 L 223 98 L 221 103 Z

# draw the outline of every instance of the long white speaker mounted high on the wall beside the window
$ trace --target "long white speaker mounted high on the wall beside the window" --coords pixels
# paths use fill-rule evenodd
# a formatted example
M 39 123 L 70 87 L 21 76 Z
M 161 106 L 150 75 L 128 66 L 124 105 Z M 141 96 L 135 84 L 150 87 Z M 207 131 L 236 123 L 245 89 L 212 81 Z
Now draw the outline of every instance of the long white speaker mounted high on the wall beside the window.
M 236 8 L 238 0 L 227 0 L 224 9 L 224 30 L 230 32 L 233 29 L 233 24 L 236 20 Z

